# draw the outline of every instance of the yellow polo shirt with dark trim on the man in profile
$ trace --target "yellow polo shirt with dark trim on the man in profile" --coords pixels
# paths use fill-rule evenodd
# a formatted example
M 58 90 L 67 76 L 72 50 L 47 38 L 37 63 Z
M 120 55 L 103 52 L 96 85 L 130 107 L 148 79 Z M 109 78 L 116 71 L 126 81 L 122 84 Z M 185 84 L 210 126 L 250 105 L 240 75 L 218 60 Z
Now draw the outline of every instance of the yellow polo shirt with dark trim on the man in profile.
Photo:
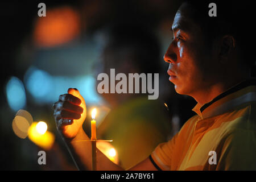
M 197 114 L 179 133 L 150 155 L 156 168 L 256 170 L 256 80 L 243 81 L 193 111 Z

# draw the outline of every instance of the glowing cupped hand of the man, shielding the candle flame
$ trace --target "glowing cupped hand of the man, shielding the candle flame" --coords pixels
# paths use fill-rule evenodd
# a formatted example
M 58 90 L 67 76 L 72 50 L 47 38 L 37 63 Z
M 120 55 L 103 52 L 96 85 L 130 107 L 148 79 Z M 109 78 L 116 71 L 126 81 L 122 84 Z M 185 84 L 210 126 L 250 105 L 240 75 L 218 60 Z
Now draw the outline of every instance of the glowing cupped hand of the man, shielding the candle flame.
M 68 94 L 60 95 L 53 105 L 57 129 L 64 138 L 76 137 L 86 118 L 84 98 L 77 89 L 68 89 Z

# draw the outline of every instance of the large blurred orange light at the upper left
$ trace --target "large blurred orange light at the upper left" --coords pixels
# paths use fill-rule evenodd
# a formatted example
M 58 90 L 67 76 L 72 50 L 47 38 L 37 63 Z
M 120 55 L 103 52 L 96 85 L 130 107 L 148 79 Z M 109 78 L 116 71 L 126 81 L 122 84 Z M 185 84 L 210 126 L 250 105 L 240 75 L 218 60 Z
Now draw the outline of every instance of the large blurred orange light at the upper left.
M 34 41 L 39 47 L 53 47 L 67 43 L 80 33 L 80 18 L 70 7 L 46 10 L 46 17 L 35 23 Z

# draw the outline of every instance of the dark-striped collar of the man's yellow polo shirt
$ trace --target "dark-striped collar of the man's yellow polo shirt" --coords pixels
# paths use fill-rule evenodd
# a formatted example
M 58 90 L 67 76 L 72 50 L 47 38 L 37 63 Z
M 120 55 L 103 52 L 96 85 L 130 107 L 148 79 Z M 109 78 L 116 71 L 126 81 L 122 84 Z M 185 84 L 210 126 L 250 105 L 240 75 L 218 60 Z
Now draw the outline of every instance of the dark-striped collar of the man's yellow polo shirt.
M 213 98 L 207 104 L 197 104 L 192 110 L 200 118 L 213 117 L 214 115 L 223 114 L 235 107 L 245 104 L 246 102 L 256 101 L 256 80 L 250 79 L 240 82 L 226 92 Z

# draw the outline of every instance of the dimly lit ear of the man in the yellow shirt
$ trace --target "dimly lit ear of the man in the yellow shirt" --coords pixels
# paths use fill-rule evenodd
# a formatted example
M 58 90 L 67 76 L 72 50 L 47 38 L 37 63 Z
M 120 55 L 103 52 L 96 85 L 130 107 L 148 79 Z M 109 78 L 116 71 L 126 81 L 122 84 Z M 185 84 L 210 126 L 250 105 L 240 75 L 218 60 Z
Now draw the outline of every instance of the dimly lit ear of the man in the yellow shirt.
M 220 41 L 220 61 L 225 63 L 226 58 L 230 55 L 230 52 L 236 47 L 236 41 L 233 36 L 225 35 Z

